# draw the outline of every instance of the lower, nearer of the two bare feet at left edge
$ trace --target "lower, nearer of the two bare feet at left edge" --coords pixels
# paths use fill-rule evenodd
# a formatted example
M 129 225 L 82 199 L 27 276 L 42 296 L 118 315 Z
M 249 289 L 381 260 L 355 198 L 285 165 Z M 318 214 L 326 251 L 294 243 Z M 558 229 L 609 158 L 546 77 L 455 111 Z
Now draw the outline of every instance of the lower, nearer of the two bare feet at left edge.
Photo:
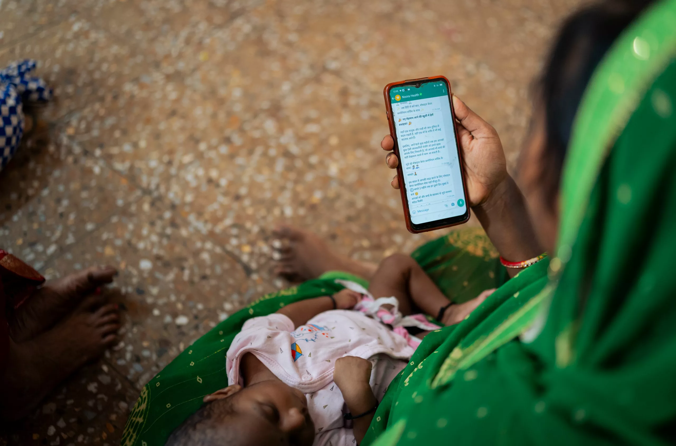
M 28 414 L 59 382 L 114 345 L 119 328 L 116 305 L 96 295 L 34 339 L 10 341 L 7 370 L 0 378 L 0 418 Z

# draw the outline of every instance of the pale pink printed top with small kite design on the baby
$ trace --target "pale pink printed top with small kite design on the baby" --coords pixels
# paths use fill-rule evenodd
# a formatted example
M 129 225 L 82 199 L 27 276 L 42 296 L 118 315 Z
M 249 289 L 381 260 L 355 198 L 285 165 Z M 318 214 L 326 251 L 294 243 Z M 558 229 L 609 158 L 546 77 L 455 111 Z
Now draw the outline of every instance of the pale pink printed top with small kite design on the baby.
M 306 394 L 315 428 L 314 446 L 354 446 L 352 425 L 343 420 L 347 406 L 333 382 L 335 360 L 343 356 L 370 360 L 370 385 L 380 401 L 414 349 L 381 322 L 360 312 L 335 309 L 298 328 L 282 314 L 247 320 L 226 353 L 231 385 L 243 384 L 239 360 L 247 352 L 277 378 Z

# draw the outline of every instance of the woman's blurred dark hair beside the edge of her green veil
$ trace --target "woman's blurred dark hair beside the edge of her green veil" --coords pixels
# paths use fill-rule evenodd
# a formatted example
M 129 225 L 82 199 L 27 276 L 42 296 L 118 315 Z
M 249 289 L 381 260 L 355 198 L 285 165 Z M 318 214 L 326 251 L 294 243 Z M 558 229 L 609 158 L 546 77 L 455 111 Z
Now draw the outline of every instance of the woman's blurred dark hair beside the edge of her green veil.
M 592 73 L 610 45 L 654 0 L 604 0 L 569 16 L 554 41 L 537 84 L 544 107 L 546 149 L 542 180 L 554 197 L 571 140 L 573 120 Z M 550 200 L 556 203 L 556 200 Z

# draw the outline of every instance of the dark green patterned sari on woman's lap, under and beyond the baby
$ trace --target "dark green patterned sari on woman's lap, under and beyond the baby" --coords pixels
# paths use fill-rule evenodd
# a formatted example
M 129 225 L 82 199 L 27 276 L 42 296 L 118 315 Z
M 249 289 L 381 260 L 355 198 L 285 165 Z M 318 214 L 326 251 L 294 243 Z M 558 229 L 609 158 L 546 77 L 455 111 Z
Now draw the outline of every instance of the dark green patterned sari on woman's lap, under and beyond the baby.
M 481 229 L 464 228 L 431 241 L 412 253 L 450 299 L 462 303 L 485 289 L 500 287 L 506 272 L 498 252 Z M 345 272 L 327 272 L 297 287 L 271 293 L 220 322 L 180 353 L 141 390 L 124 427 L 123 446 L 161 446 L 170 433 L 208 395 L 228 385 L 225 352 L 249 318 L 265 316 L 289 303 L 331 295 L 343 289 L 337 279 L 366 280 Z

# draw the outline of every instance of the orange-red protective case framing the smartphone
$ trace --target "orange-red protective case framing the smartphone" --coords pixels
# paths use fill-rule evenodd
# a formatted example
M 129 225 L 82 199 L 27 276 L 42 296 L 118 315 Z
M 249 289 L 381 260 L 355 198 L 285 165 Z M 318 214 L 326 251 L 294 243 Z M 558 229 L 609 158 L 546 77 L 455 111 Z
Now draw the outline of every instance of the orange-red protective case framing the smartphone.
M 425 228 L 425 229 L 414 229 L 412 226 L 411 222 L 411 217 L 410 217 L 410 212 L 408 211 L 408 199 L 406 199 L 406 185 L 404 183 L 404 171 L 402 170 L 402 163 L 401 163 L 401 158 L 399 156 L 399 143 L 397 142 L 397 132 L 395 131 L 394 128 L 394 120 L 392 118 L 392 104 L 389 99 L 389 91 L 393 86 L 396 85 L 401 85 L 401 84 L 409 84 L 411 82 L 416 82 L 418 80 L 434 80 L 434 79 L 443 79 L 445 80 L 446 84 L 448 85 L 448 99 L 451 104 L 451 114 L 453 116 L 453 127 L 454 127 L 454 133 L 456 137 L 456 147 L 458 147 L 458 161 L 460 162 L 460 176 L 462 177 L 462 191 L 463 191 L 463 196 L 464 196 L 464 201 L 467 203 L 467 217 L 464 220 L 451 223 L 451 224 L 444 224 L 442 226 L 434 226 L 432 228 Z M 408 232 L 412 232 L 413 234 L 419 234 L 420 232 L 428 232 L 431 230 L 437 230 L 437 229 L 443 229 L 443 228 L 450 228 L 451 226 L 457 226 L 458 224 L 463 224 L 466 223 L 469 220 L 470 217 L 470 207 L 469 207 L 469 201 L 467 199 L 467 187 L 465 183 L 465 176 L 464 176 L 464 164 L 462 162 L 462 151 L 460 151 L 460 141 L 458 140 L 458 128 L 456 128 L 456 111 L 453 108 L 453 101 L 452 99 L 452 93 L 451 93 L 451 82 L 445 77 L 445 76 L 431 76 L 429 78 L 418 78 L 418 79 L 408 79 L 408 80 L 400 80 L 399 82 L 391 82 L 387 85 L 385 85 L 385 89 L 383 89 L 383 95 L 385 96 L 385 108 L 387 109 L 387 124 L 389 124 L 389 134 L 394 140 L 394 149 L 393 152 L 395 155 L 397 155 L 397 158 L 400 159 L 400 163 L 397 166 L 397 177 L 399 177 L 399 184 L 400 188 L 399 191 L 402 195 L 402 205 L 404 205 L 404 218 L 406 219 L 406 229 L 408 229 Z

